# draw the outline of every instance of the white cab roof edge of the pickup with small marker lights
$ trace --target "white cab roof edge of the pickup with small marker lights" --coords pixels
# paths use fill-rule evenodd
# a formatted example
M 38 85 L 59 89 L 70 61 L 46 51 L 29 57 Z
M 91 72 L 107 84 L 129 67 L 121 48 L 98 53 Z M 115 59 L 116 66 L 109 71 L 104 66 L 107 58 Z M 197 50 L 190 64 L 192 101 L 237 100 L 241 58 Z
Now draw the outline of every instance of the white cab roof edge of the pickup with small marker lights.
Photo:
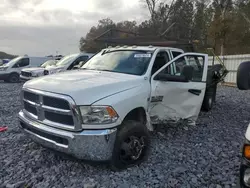
M 172 48 L 172 47 L 162 47 L 162 46 L 110 46 L 105 48 L 104 50 L 143 50 L 143 51 L 155 51 L 156 49 L 165 49 L 165 50 L 174 50 L 184 52 L 180 48 Z

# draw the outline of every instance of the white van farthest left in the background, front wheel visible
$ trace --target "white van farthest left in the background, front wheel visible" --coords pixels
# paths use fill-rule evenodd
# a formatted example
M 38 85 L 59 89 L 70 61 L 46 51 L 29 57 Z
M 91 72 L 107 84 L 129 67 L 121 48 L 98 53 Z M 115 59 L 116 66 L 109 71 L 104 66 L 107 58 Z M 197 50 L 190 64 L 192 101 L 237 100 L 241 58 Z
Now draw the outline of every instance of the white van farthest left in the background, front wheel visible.
M 5 82 L 19 82 L 21 70 L 25 67 L 38 67 L 53 57 L 19 56 L 0 66 L 0 80 Z

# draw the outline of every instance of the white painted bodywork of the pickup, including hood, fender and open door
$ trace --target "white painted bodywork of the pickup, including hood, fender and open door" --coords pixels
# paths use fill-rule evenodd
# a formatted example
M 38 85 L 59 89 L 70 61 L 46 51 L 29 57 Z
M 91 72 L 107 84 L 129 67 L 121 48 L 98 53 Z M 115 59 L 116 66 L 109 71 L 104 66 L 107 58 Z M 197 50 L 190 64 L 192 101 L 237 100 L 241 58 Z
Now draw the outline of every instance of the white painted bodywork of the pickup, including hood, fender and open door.
M 119 50 L 134 49 L 133 47 L 119 48 Z M 183 51 L 166 47 L 136 47 L 136 50 L 153 52 L 148 69 L 141 76 L 96 70 L 73 70 L 28 81 L 24 84 L 24 87 L 70 96 L 77 106 L 112 106 L 119 115 L 118 120 L 112 124 L 84 124 L 83 128 L 87 129 L 116 127 L 121 124 L 131 110 L 141 107 L 145 109 L 148 115 L 157 115 L 161 120 L 190 118 L 195 121 L 206 88 L 207 55 L 197 53 L 182 54 L 166 63 L 164 67 L 151 76 L 151 69 L 158 52 L 166 51 L 171 54 L 172 50 L 181 53 Z M 200 55 L 205 58 L 202 82 L 163 83 L 162 81 L 153 80 L 162 69 L 184 55 Z M 202 92 L 197 96 L 189 93 L 188 89 L 199 89 Z M 159 94 L 163 96 L 164 100 L 157 103 L 151 102 L 151 99 Z M 169 109 L 172 109 L 174 113 Z

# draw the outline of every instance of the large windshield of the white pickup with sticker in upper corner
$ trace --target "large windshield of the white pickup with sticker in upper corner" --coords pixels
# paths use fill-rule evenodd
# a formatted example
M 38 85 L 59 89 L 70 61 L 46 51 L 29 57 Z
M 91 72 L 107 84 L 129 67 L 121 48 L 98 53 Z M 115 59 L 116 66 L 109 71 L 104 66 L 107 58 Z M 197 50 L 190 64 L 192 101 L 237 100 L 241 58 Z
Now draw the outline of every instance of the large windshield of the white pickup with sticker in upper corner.
M 142 75 L 146 72 L 152 56 L 151 51 L 116 50 L 100 52 L 81 68 L 125 74 Z

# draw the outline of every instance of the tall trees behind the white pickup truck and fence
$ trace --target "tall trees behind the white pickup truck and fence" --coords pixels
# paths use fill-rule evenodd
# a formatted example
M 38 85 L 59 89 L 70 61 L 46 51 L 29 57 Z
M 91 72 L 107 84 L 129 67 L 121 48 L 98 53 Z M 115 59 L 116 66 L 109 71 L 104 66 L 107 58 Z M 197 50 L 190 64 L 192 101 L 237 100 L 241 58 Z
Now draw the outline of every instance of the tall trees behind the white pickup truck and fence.
M 100 20 L 84 38 L 81 37 L 79 49 L 96 52 L 104 48 L 105 44 L 95 43 L 93 39 L 115 28 L 143 36 L 160 35 L 167 29 L 166 39 L 198 41 L 198 52 L 206 52 L 208 47 L 213 47 L 216 54 L 250 51 L 250 0 L 142 1 L 149 9 L 149 20 L 140 24 L 135 21 L 114 23 L 109 18 Z M 129 34 L 113 33 L 114 36 L 125 38 Z

